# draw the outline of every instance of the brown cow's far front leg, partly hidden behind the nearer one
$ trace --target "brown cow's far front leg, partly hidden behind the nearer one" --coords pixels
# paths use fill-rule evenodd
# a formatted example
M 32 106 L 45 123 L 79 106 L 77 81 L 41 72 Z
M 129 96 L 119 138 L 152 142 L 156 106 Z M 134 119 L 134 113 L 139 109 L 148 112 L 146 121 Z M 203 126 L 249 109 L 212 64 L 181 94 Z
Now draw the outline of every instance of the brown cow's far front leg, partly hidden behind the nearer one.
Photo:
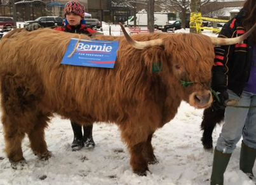
M 149 136 L 147 136 L 147 142 L 145 143 L 144 149 L 142 151 L 142 154 L 144 155 L 145 160 L 149 164 L 158 163 L 158 160 L 156 159 L 156 156 L 154 155 L 154 149 L 151 144 L 152 136 L 153 136 L 153 134 L 149 134 Z

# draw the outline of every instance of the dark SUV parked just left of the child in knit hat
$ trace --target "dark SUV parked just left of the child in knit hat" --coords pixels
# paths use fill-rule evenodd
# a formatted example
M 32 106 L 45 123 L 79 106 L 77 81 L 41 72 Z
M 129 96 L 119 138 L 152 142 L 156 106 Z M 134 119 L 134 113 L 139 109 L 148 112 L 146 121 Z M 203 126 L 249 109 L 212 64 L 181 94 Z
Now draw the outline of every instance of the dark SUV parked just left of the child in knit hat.
M 30 25 L 32 23 L 39 23 L 41 27 L 53 27 L 55 24 L 62 26 L 63 19 L 60 16 L 40 16 L 36 20 L 25 21 L 24 26 Z

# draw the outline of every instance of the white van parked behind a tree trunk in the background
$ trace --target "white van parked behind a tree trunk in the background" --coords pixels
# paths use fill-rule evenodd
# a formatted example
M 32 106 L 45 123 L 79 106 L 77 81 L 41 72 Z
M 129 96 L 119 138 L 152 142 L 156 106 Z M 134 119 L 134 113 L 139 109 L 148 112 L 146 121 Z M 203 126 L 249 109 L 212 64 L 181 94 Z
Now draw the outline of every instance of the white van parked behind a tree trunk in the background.
M 147 26 L 147 12 L 137 13 L 137 26 L 146 27 Z M 154 12 L 154 27 L 155 29 L 162 29 L 163 25 L 168 24 L 170 20 L 170 13 L 165 12 Z M 134 17 L 125 22 L 125 25 L 131 27 L 134 25 Z

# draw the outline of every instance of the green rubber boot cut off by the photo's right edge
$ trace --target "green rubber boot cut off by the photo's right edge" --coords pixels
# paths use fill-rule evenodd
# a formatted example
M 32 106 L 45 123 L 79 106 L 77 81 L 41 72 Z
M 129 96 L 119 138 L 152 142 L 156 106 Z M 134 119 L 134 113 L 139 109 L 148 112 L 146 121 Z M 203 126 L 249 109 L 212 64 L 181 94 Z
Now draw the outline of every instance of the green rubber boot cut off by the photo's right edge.
M 250 179 L 255 179 L 252 169 L 256 158 L 256 149 L 241 144 L 239 167 Z

